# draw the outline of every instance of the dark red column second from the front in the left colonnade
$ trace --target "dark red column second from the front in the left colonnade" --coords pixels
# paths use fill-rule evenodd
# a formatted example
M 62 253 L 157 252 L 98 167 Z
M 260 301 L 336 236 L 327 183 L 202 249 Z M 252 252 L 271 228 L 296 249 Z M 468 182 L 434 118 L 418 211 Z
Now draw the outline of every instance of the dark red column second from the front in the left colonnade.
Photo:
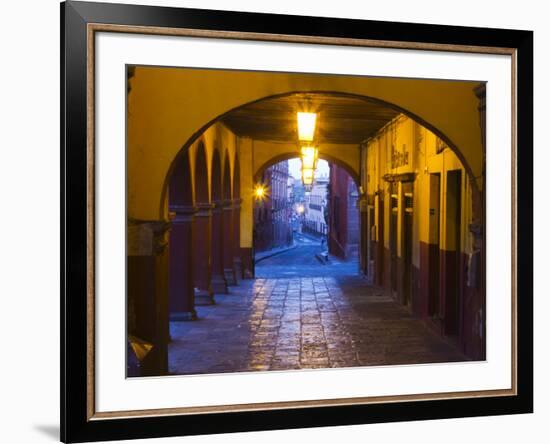
M 170 320 L 192 321 L 197 318 L 193 285 L 193 215 L 197 208 L 171 206 L 170 210 Z

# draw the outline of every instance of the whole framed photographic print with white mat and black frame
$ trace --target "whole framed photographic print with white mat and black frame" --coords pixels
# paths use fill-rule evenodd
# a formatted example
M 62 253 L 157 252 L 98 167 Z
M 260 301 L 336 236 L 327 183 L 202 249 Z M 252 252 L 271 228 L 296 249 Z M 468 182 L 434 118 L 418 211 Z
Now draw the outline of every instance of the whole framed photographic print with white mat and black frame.
M 532 32 L 61 14 L 63 441 L 532 411 Z

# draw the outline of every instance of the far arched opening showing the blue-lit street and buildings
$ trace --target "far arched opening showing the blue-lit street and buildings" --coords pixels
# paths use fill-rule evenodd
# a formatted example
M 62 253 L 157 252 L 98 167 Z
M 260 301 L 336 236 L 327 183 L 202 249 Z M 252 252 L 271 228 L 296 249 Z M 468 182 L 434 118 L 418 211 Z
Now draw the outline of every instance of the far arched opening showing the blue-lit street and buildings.
M 321 158 L 313 184 L 305 187 L 295 156 L 285 154 L 256 174 L 256 189 L 265 196 L 256 196 L 254 205 L 255 276 L 358 274 L 358 179 L 349 166 Z

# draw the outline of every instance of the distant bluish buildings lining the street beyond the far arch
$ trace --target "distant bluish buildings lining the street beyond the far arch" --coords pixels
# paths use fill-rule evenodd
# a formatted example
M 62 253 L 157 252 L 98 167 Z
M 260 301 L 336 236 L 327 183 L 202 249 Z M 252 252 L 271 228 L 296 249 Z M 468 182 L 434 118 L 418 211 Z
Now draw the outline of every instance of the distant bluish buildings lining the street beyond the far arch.
M 311 191 L 289 174 L 288 162 L 265 170 L 261 183 L 267 193 L 256 199 L 254 245 L 256 252 L 290 245 L 293 231 L 326 237 L 330 254 L 342 259 L 357 256 L 359 248 L 359 193 L 349 173 L 329 164 Z

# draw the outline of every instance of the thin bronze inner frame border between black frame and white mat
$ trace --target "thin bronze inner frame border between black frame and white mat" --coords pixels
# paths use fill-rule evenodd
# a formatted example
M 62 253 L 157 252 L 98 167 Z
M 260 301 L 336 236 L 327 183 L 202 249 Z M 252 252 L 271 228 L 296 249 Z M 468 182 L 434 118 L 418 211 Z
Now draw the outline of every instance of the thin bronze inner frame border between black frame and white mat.
M 445 393 L 422 393 L 413 395 L 392 395 L 353 397 L 339 399 L 319 399 L 309 401 L 286 401 L 266 402 L 252 404 L 227 404 L 217 406 L 159 408 L 144 410 L 124 410 L 112 412 L 97 412 L 95 409 L 95 33 L 115 32 L 126 34 L 162 35 L 162 36 L 184 36 L 198 38 L 217 38 L 249 41 L 286 42 L 286 43 L 307 43 L 321 45 L 374 47 L 391 49 L 413 49 L 425 51 L 462 52 L 479 54 L 508 55 L 511 57 L 511 99 L 512 99 L 512 350 L 511 350 L 511 373 L 512 388 L 502 390 L 477 390 L 465 392 Z M 86 164 L 87 164 L 87 295 L 86 295 L 86 413 L 87 421 L 138 418 L 138 417 L 160 417 L 171 415 L 192 415 L 192 414 L 213 414 L 233 413 L 247 411 L 265 411 L 279 409 L 301 409 L 310 407 L 335 407 L 344 405 L 366 405 L 381 403 L 397 403 L 410 401 L 430 401 L 447 399 L 485 398 L 517 396 L 517 49 L 491 46 L 474 46 L 458 44 L 439 44 L 422 42 L 401 42 L 389 40 L 353 39 L 339 37 L 300 36 L 286 34 L 263 34 L 253 32 L 237 31 L 216 31 L 192 28 L 170 28 L 155 26 L 131 26 L 105 23 L 88 23 L 86 25 L 87 54 L 86 54 L 86 96 L 87 96 L 87 143 L 86 143 Z M 485 211 L 485 209 L 484 209 Z

